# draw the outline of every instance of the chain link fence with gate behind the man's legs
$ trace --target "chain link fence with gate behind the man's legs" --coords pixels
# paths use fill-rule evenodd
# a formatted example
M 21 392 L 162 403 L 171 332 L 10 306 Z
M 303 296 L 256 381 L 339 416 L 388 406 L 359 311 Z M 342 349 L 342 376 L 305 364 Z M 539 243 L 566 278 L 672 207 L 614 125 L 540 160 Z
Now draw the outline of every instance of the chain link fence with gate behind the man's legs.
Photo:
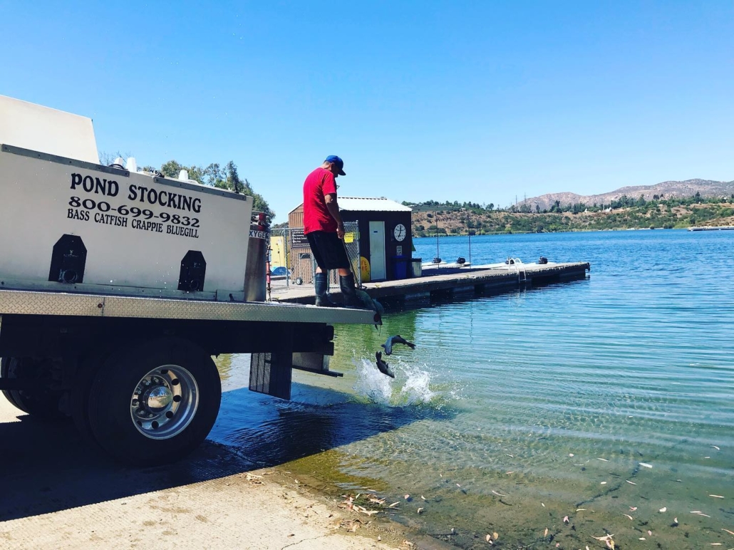
M 355 281 L 362 284 L 360 270 L 360 233 L 356 221 L 344 222 L 344 245 L 352 263 Z M 270 287 L 313 285 L 316 260 L 313 259 L 302 227 L 284 227 L 270 230 Z M 329 284 L 339 287 L 338 271 L 329 272 Z

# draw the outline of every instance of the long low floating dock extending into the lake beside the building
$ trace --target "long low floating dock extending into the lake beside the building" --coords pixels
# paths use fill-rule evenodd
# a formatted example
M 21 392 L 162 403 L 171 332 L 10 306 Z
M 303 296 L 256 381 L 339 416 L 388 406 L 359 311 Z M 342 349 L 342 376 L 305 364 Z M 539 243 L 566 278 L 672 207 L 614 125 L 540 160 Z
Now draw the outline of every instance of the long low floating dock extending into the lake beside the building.
M 383 304 L 424 304 L 436 299 L 466 298 L 473 294 L 501 294 L 521 287 L 585 279 L 589 263 L 504 263 L 470 267 L 424 266 L 420 277 L 368 282 L 364 290 Z M 340 301 L 338 288 L 330 289 Z M 313 285 L 272 287 L 275 301 L 313 304 Z

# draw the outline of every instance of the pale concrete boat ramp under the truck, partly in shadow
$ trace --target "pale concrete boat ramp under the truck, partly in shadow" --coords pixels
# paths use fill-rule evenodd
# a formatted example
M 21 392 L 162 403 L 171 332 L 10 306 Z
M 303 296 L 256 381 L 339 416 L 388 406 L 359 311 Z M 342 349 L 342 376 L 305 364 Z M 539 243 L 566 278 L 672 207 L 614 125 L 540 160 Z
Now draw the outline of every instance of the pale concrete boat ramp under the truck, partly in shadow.
M 448 548 L 348 510 L 324 490 L 333 484 L 287 465 L 257 469 L 211 441 L 170 466 L 128 469 L 84 444 L 70 423 L 37 422 L 4 399 L 0 438 L 14 446 L 0 455 L 13 472 L 0 499 L 7 549 Z

